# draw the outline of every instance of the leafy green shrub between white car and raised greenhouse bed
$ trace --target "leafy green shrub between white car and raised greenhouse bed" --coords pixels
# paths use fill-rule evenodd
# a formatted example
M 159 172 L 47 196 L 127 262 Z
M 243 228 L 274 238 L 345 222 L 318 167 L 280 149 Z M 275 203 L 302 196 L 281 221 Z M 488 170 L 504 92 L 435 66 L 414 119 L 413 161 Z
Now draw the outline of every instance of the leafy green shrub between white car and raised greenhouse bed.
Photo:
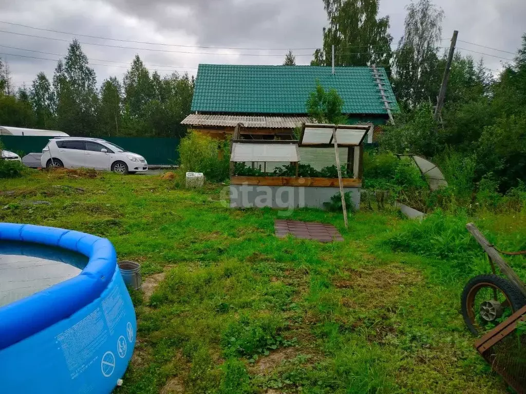
M 179 145 L 181 170 L 203 172 L 206 179 L 222 182 L 230 175 L 230 142 L 219 141 L 195 131 L 181 139 Z

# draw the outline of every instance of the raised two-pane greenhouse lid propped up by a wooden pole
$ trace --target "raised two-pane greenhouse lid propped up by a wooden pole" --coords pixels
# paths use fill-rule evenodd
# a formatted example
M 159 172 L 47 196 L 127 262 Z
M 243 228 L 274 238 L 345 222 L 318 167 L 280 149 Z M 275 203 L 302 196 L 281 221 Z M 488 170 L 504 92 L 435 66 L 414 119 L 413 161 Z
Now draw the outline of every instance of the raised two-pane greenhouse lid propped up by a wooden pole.
M 336 128 L 336 141 L 339 147 L 357 147 L 372 125 L 325 125 L 305 123 L 301 127 L 300 147 L 330 148 L 334 145 L 332 129 Z

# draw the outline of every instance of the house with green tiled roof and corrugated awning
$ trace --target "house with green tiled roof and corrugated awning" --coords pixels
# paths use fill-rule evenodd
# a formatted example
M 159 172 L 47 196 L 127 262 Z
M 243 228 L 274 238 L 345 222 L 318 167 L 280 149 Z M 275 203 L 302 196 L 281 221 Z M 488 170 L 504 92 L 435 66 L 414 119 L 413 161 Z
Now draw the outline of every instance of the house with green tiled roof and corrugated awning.
M 238 123 L 255 139 L 287 138 L 309 121 L 306 102 L 316 81 L 338 91 L 349 123 L 383 125 L 398 110 L 382 67 L 200 64 L 192 113 L 181 123 L 216 138 Z

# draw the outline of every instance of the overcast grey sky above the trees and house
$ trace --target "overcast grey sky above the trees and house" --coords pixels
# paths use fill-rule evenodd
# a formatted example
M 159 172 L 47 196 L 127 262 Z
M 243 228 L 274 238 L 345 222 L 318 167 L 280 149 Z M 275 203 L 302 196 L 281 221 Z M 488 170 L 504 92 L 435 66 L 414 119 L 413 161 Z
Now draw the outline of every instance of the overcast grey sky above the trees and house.
M 322 0 L 0 0 L 0 57 L 7 59 L 11 67 L 13 86 L 24 82 L 30 86 L 38 71 L 44 71 L 49 79 L 53 77 L 56 59 L 60 57 L 57 55 L 64 55 L 68 42 L 75 37 L 5 23 L 9 22 L 77 35 L 180 45 L 77 36 L 99 82 L 113 75 L 122 78 L 135 54 L 161 75 L 174 70 L 195 75 L 199 63 L 277 65 L 282 63 L 288 48 L 294 49 L 298 65 L 307 65 L 313 48 L 321 45 L 321 29 L 327 25 L 322 3 Z M 393 44 L 403 32 L 408 3 L 408 0 L 380 2 L 380 14 L 391 19 Z M 453 29 L 458 29 L 459 40 L 514 53 L 526 32 L 524 0 L 436 0 L 435 3 L 445 12 L 442 36 L 448 39 L 442 42 L 443 46 L 449 45 Z M 502 58 L 513 58 L 511 53 L 467 43 L 459 42 L 457 46 L 497 56 L 483 56 L 487 67 L 495 71 L 501 68 L 501 61 L 506 61 Z M 245 56 L 249 54 L 259 56 Z M 476 60 L 482 56 L 471 55 Z

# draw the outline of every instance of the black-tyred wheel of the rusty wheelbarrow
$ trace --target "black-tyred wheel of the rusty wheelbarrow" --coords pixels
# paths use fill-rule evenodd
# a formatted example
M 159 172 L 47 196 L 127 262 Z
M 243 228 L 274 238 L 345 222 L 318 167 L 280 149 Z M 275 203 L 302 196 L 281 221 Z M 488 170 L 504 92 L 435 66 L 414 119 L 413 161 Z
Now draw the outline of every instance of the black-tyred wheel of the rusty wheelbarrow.
M 469 330 L 482 336 L 526 305 L 526 297 L 507 279 L 479 275 L 464 287 L 461 302 Z

